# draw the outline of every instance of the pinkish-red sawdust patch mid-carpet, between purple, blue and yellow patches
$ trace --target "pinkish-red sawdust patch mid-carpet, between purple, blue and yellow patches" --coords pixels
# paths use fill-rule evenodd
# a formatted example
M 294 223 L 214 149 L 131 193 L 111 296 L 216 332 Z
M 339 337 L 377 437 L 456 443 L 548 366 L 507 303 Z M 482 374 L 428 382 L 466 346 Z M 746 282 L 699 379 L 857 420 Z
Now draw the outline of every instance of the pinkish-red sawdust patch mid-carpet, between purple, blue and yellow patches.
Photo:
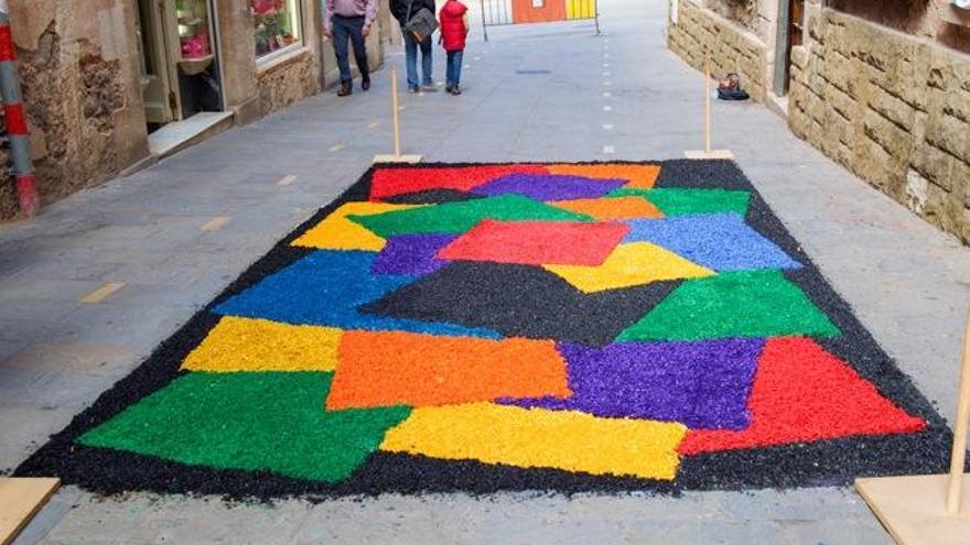
M 629 231 L 626 224 L 483 220 L 438 258 L 525 265 L 603 264 Z

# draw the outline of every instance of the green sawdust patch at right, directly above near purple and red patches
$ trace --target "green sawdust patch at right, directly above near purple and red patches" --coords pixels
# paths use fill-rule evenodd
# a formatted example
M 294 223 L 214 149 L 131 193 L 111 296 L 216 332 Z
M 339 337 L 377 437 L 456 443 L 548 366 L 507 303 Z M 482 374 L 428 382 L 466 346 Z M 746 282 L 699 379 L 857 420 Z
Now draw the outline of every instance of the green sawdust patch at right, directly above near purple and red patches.
M 839 329 L 779 271 L 689 280 L 617 340 L 700 340 L 818 335 Z

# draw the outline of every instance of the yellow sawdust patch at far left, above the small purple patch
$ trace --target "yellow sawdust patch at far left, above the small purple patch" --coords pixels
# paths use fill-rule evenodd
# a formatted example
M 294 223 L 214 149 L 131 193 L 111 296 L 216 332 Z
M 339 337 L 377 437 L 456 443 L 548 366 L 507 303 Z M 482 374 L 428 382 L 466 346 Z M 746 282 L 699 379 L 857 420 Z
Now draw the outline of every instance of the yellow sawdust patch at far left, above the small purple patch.
M 359 224 L 351 221 L 347 219 L 347 216 L 367 216 L 414 208 L 416 206 L 386 203 L 347 203 L 301 235 L 300 238 L 293 241 L 292 246 L 326 250 L 369 250 L 378 252 L 384 250 L 387 241 Z

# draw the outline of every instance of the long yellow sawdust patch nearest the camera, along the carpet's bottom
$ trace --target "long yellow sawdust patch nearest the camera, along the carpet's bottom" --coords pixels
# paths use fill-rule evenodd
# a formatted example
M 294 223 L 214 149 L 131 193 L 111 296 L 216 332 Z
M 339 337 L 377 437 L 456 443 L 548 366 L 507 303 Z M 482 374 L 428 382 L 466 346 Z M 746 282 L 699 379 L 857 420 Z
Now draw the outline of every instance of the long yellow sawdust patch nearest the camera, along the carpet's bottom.
M 682 424 L 493 403 L 418 407 L 380 448 L 449 460 L 670 480 Z

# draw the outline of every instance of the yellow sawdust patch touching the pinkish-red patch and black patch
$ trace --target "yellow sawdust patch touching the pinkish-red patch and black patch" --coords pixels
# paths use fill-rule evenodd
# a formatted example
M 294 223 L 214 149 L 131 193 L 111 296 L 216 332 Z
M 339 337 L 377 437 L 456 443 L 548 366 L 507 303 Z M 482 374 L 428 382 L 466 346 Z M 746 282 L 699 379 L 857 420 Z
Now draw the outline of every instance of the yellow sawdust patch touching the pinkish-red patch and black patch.
M 593 293 L 661 280 L 713 276 L 714 271 L 649 242 L 617 246 L 602 265 L 543 265 L 581 292 Z

